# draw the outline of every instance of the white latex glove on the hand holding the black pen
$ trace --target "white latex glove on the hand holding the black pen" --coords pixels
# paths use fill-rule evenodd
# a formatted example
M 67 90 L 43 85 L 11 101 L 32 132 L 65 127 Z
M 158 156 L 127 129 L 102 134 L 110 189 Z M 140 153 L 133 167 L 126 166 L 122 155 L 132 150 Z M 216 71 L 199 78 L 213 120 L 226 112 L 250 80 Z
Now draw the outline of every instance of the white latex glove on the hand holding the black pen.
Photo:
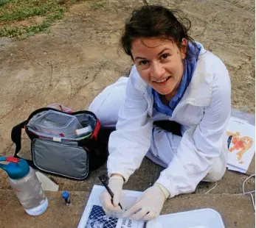
M 107 190 L 104 190 L 100 195 L 100 202 L 103 204 L 103 210 L 106 214 L 110 214 L 111 212 L 122 212 L 121 207 L 118 204 L 120 203 L 123 183 L 124 179 L 121 175 L 113 175 L 111 178 L 109 178 L 108 187 L 114 193 L 113 200 L 111 199 L 111 196 Z

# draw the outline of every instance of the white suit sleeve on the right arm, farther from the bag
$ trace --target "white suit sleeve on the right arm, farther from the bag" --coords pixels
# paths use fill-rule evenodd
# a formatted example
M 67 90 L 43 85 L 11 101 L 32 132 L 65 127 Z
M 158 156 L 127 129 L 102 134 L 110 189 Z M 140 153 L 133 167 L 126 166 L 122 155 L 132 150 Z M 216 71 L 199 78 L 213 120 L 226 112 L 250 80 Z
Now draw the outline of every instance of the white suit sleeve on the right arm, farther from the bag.
M 229 76 L 221 76 L 214 79 L 212 99 L 200 124 L 184 132 L 176 155 L 156 181 L 169 190 L 170 198 L 193 192 L 215 159 L 224 150 L 228 152 L 226 126 L 231 113 L 231 86 Z

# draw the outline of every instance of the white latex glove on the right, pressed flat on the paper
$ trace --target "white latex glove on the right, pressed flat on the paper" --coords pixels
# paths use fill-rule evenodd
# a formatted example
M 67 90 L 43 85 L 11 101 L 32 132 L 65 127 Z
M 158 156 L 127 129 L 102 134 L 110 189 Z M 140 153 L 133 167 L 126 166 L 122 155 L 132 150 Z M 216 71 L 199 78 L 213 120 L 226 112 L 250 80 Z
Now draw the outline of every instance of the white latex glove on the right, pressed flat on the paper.
M 169 196 L 168 190 L 156 183 L 151 188 L 145 190 L 142 196 L 136 200 L 133 207 L 123 213 L 124 218 L 133 220 L 151 220 L 159 216 L 165 200 Z

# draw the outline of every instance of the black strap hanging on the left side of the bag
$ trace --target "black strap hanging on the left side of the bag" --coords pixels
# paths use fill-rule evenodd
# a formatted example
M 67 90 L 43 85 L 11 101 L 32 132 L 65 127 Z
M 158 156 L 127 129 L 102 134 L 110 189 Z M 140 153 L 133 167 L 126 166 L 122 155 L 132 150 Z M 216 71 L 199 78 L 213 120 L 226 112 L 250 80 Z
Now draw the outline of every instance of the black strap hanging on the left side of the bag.
M 26 123 L 27 123 L 27 121 L 23 121 L 20 124 L 13 127 L 13 129 L 12 129 L 11 138 L 13 140 L 13 143 L 15 143 L 15 146 L 16 146 L 15 153 L 14 153 L 13 157 L 18 157 L 20 159 L 26 160 L 27 163 L 32 168 L 36 168 L 35 164 L 32 162 L 32 160 L 27 160 L 27 159 L 24 159 L 24 158 L 18 156 L 18 152 L 20 152 L 20 150 L 21 150 L 21 130 L 25 127 Z

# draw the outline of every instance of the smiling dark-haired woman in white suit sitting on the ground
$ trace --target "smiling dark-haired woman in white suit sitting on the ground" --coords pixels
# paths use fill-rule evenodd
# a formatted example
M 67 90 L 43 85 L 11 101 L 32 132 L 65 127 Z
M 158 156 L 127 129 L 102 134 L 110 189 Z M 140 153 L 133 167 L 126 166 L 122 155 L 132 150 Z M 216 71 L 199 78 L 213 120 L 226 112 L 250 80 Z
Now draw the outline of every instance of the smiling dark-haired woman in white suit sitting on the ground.
M 165 170 L 125 218 L 156 218 L 167 198 L 224 175 L 229 74 L 218 57 L 187 35 L 188 29 L 172 11 L 154 5 L 135 10 L 125 24 L 121 43 L 134 61 L 131 73 L 105 88 L 89 107 L 103 126 L 116 125 L 107 163 L 113 203 L 107 191 L 101 196 L 107 213 L 121 210 L 122 185 L 145 156 Z M 167 121 L 169 129 L 159 121 Z

